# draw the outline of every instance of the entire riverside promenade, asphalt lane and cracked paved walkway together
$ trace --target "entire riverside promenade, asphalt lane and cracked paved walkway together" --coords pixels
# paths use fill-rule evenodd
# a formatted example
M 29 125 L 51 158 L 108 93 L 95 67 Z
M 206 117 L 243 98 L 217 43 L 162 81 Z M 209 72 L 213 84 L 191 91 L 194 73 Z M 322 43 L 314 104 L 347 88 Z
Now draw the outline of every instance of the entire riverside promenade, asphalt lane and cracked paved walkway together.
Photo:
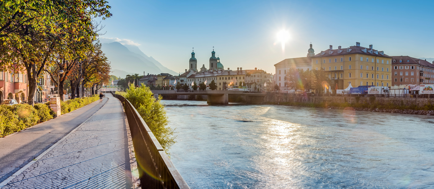
M 0 188 L 132 188 L 125 114 L 106 96 L 0 138 Z

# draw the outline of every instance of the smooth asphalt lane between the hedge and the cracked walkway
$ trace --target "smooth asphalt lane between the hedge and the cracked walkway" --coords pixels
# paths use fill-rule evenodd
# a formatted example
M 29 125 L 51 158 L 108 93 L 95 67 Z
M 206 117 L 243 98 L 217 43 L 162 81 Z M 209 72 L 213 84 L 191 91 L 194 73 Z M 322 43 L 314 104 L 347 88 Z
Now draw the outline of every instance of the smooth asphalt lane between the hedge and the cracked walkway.
M 107 101 L 95 101 L 68 114 L 0 138 L 0 183 L 95 114 Z

